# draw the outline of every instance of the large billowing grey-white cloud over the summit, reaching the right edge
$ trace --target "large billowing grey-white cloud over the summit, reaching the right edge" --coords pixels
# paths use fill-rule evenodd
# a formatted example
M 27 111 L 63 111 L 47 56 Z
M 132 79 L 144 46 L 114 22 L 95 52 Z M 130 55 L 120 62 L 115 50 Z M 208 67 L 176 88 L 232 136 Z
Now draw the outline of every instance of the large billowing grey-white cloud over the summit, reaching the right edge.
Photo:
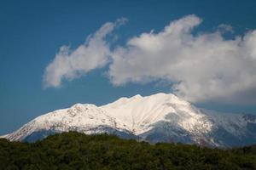
M 192 102 L 256 103 L 256 31 L 228 40 L 219 29 L 192 33 L 201 19 L 175 20 L 163 31 L 132 37 L 113 51 L 109 77 L 115 85 L 167 80 Z M 231 31 L 231 27 L 220 25 Z M 250 93 L 248 93 L 250 92 Z M 247 98 L 251 94 L 254 97 Z

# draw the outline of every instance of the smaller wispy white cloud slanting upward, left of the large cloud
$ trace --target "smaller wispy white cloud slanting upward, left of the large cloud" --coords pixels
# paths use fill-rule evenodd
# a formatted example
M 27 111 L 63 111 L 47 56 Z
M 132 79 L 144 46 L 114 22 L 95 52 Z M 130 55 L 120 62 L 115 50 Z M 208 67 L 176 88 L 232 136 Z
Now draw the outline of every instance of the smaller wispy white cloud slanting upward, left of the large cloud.
M 64 79 L 73 80 L 88 71 L 107 65 L 111 52 L 106 37 L 115 27 L 124 24 L 125 20 L 119 19 L 114 23 L 104 24 L 74 50 L 62 46 L 44 71 L 44 87 L 59 87 Z

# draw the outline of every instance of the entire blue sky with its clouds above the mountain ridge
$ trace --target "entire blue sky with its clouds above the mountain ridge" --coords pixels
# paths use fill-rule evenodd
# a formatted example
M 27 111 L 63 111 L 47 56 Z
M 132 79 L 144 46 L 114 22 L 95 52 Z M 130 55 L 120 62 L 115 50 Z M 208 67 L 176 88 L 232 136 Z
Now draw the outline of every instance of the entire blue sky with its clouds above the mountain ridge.
M 256 2 L 1 1 L 0 134 L 75 103 L 173 93 L 256 114 Z

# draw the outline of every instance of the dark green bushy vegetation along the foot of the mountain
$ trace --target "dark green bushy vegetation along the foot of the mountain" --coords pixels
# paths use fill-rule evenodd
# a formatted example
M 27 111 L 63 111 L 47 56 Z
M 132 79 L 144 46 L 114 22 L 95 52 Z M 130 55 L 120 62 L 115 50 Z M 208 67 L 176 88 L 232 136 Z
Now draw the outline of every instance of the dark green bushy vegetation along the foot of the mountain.
M 256 169 L 256 146 L 219 150 L 72 132 L 32 144 L 0 139 L 0 169 Z

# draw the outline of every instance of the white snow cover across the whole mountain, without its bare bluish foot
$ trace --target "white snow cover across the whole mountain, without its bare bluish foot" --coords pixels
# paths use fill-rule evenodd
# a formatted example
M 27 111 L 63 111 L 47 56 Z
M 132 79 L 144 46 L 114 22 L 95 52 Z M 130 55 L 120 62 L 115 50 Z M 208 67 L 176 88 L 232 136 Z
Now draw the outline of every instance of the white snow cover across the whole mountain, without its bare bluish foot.
M 119 132 L 140 136 L 150 132 L 158 122 L 166 122 L 170 127 L 182 129 L 192 135 L 191 139 L 195 142 L 199 143 L 204 138 L 211 144 L 214 144 L 213 137 L 207 139 L 206 136 L 214 128 L 221 126 L 229 133 L 240 135 L 245 133 L 247 125 L 242 115 L 223 116 L 211 111 L 201 111 L 174 94 L 160 93 L 144 97 L 137 94 L 131 98 L 120 98 L 108 105 L 76 104 L 67 109 L 49 112 L 3 138 L 22 140 L 40 130 L 101 133 L 97 127 L 112 127 Z M 237 127 L 242 129 L 241 132 L 236 132 Z M 171 135 L 171 131 L 172 129 L 167 128 L 165 133 Z

